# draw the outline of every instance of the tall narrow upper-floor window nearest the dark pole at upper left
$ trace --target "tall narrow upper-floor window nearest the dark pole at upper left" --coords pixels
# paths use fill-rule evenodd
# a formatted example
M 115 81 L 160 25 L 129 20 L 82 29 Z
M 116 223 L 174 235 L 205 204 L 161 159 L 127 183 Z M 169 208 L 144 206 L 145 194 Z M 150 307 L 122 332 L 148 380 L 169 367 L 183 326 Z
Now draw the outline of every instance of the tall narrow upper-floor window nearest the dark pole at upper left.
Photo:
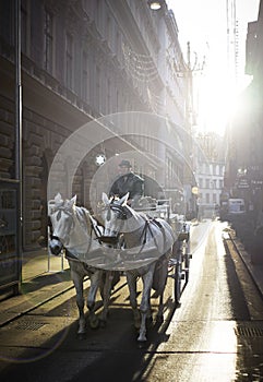
M 47 10 L 44 20 L 44 69 L 49 73 L 53 69 L 53 17 Z

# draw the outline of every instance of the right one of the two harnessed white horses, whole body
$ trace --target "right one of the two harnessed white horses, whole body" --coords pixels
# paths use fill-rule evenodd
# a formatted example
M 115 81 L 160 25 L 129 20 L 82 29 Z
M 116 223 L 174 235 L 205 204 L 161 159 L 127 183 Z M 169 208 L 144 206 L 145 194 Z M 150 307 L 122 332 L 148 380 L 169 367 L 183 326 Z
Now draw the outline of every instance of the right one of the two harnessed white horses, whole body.
M 168 261 L 174 249 L 176 235 L 171 226 L 164 219 L 150 219 L 145 214 L 138 213 L 127 204 L 129 193 L 118 201 L 108 199 L 103 193 L 105 207 L 101 210 L 104 237 L 116 238 L 123 234 L 127 253 L 131 251 L 134 259 L 133 268 L 128 268 L 127 282 L 130 290 L 130 302 L 133 310 L 134 325 L 139 329 L 138 342 L 146 341 L 146 319 L 152 319 L 151 290 L 159 296 L 157 320 L 164 315 L 164 290 L 168 276 Z M 154 252 L 152 261 L 140 265 L 144 254 Z M 135 255 L 134 255 L 135 253 Z M 146 256 L 147 258 L 147 256 Z M 151 258 L 151 256 L 150 256 Z M 141 262 L 142 264 L 142 262 Z M 142 277 L 143 294 L 138 309 L 136 280 Z

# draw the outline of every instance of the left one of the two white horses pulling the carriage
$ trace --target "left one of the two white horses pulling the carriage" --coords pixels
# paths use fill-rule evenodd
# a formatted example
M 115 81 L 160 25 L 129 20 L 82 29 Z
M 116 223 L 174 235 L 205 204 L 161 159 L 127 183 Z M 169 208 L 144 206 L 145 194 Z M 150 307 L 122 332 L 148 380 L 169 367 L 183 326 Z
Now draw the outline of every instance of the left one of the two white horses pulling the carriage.
M 57 194 L 50 207 L 50 220 L 52 225 L 52 235 L 49 241 L 50 250 L 53 254 L 59 254 L 62 247 L 67 250 L 67 259 L 70 265 L 71 278 L 76 290 L 76 305 L 79 308 L 79 331 L 77 334 L 85 333 L 84 317 L 84 296 L 83 280 L 85 276 L 89 277 L 91 287 L 87 296 L 87 308 L 89 310 L 88 323 L 92 329 L 106 324 L 110 291 L 118 282 L 118 274 L 111 271 L 104 271 L 85 263 L 85 255 L 99 247 L 98 238 L 103 234 L 103 227 L 89 212 L 75 205 L 76 196 L 63 201 L 60 194 Z M 117 276 L 117 277 L 116 277 Z M 95 313 L 95 300 L 98 288 L 103 298 L 104 309 L 100 320 Z

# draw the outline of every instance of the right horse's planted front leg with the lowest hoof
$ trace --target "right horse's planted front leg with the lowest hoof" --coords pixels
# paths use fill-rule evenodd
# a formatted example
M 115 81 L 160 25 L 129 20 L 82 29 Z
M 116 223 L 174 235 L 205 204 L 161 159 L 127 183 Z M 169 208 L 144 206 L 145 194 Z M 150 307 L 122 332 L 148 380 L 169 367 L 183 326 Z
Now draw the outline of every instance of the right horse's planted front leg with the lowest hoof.
M 141 327 L 140 327 L 140 333 L 138 337 L 138 342 L 140 343 L 147 341 L 146 320 L 152 319 L 151 302 L 150 302 L 152 285 L 153 285 L 153 271 L 151 270 L 145 275 L 143 275 L 143 295 L 142 295 L 142 301 L 140 305 L 142 321 L 141 321 Z

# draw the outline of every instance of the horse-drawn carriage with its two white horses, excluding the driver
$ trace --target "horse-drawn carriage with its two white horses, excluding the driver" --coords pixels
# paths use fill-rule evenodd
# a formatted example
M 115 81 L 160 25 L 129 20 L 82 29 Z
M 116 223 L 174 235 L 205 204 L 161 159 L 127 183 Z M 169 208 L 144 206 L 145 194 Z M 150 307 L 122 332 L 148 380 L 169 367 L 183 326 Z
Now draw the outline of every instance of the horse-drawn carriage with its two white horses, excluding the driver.
M 159 297 L 157 320 L 163 320 L 164 290 L 170 276 L 175 284 L 175 301 L 180 300 L 181 280 L 189 276 L 189 226 L 170 213 L 167 201 L 155 205 L 128 204 L 129 194 L 112 201 L 103 194 L 99 217 L 76 206 L 76 198 L 63 201 L 56 195 L 49 202 L 52 235 L 49 241 L 52 253 L 67 249 L 71 276 L 76 289 L 80 311 L 79 333 L 85 332 L 83 278 L 91 278 L 87 297 L 89 324 L 96 326 L 95 298 L 99 289 L 103 301 L 103 321 L 107 319 L 110 291 L 115 274 L 124 271 L 139 343 L 146 341 L 146 319 L 152 318 L 151 290 Z M 172 272 L 174 270 L 174 272 Z M 142 301 L 138 309 L 136 280 L 143 279 Z

